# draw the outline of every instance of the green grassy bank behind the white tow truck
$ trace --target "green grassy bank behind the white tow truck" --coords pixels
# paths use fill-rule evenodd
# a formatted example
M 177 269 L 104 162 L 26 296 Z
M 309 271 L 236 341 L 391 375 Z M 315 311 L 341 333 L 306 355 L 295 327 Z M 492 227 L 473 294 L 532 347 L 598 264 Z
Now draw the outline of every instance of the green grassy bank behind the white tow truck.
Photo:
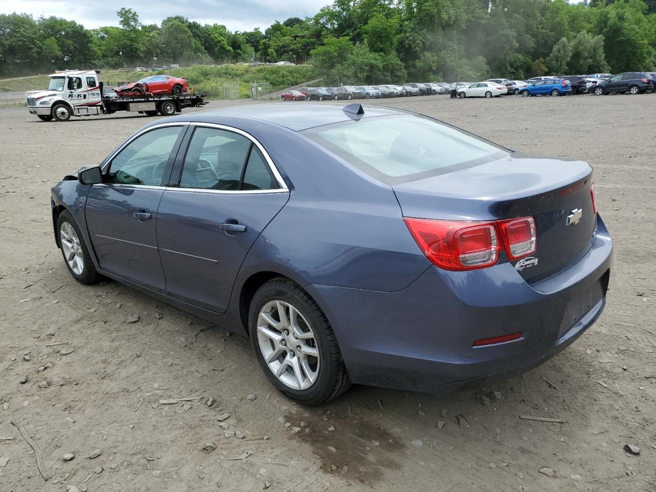
M 123 70 L 102 70 L 98 76 L 101 81 L 117 83 L 118 81 L 135 82 L 138 79 L 167 73 L 174 77 L 185 77 L 196 92 L 207 94 L 211 98 L 224 98 L 226 84 L 239 84 L 239 96 L 250 97 L 250 83 L 268 82 L 272 91 L 279 91 L 291 85 L 297 85 L 316 79 L 317 75 L 311 65 L 275 66 L 260 65 L 257 67 L 230 65 L 212 67 L 196 65 L 188 68 L 174 68 L 161 72 L 126 72 Z M 22 92 L 47 89 L 49 78 L 47 75 L 33 75 L 32 77 L 16 77 L 15 79 L 0 80 L 0 91 Z

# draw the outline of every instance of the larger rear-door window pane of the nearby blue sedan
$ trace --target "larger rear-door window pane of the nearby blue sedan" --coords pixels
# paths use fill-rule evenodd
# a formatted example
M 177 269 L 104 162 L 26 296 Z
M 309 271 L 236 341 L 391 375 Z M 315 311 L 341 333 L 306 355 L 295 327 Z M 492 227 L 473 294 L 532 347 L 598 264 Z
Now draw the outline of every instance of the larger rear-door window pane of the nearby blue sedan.
M 238 133 L 198 127 L 182 166 L 180 188 L 239 190 L 251 140 Z

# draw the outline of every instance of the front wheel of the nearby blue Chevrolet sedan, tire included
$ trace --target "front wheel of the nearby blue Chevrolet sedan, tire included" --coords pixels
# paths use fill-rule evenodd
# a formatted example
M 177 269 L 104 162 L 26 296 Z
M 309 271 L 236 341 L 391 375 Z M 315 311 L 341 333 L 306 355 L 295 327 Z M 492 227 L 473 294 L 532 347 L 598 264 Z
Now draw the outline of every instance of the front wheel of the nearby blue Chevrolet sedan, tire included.
M 84 241 L 77 222 L 68 211 L 60 213 L 57 219 L 59 245 L 64 262 L 73 278 L 80 283 L 95 283 L 100 278 L 89 256 L 87 243 Z

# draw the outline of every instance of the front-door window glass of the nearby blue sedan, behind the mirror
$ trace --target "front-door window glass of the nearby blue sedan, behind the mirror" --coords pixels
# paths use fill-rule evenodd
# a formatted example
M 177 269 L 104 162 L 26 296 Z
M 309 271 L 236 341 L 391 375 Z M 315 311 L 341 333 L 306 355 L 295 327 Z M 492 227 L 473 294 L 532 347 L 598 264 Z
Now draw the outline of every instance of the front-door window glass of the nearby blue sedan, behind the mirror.
M 182 127 L 163 127 L 144 133 L 127 144 L 110 163 L 102 182 L 163 186 L 164 171 Z

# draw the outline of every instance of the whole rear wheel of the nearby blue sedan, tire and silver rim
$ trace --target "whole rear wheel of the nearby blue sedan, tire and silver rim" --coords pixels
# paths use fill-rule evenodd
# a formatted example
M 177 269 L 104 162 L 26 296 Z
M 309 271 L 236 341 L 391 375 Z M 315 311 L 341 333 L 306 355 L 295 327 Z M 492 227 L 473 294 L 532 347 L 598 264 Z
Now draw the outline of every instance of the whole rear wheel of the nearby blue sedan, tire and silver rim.
M 350 386 L 335 332 L 314 299 L 285 277 L 256 291 L 249 333 L 266 377 L 304 405 L 321 405 Z

